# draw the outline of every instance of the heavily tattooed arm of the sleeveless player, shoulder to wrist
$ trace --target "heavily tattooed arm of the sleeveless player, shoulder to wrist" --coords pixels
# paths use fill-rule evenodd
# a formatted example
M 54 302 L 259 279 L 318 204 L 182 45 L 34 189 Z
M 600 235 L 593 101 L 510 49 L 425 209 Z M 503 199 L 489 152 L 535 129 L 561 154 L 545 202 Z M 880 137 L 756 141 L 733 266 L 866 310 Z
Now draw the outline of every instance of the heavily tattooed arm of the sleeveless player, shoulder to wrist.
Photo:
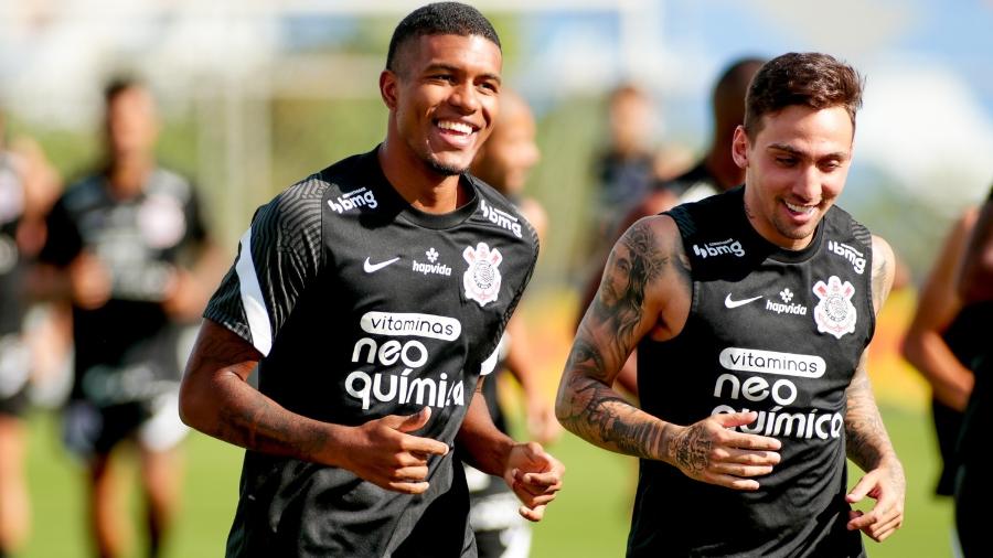
M 559 419 L 570 431 L 602 448 L 647 459 L 661 459 L 664 423 L 632 407 L 612 383 L 638 342 L 647 290 L 672 264 L 685 272 L 674 254 L 660 249 L 651 225 L 643 222 L 618 242 L 579 325 L 559 394 Z

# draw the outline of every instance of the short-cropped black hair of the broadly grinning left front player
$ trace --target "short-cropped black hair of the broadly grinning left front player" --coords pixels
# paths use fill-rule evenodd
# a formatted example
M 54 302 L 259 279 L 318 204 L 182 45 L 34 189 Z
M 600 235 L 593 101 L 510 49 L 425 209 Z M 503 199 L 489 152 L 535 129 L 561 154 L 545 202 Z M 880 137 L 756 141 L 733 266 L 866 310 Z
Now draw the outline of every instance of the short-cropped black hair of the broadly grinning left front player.
M 476 8 L 459 2 L 437 2 L 410 12 L 393 31 L 386 69 L 397 72 L 396 56 L 401 46 L 412 39 L 425 35 L 479 35 L 500 47 L 496 30 Z

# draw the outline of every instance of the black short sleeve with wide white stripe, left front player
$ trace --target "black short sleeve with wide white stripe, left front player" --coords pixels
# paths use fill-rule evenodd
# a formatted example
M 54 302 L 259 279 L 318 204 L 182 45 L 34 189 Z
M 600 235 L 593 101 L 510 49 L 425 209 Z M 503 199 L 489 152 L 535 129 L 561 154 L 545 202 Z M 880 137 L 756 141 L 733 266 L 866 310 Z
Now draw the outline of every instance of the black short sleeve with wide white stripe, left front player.
M 316 176 L 290 186 L 256 211 L 238 255 L 203 316 L 268 355 L 280 328 L 322 265 L 321 198 Z

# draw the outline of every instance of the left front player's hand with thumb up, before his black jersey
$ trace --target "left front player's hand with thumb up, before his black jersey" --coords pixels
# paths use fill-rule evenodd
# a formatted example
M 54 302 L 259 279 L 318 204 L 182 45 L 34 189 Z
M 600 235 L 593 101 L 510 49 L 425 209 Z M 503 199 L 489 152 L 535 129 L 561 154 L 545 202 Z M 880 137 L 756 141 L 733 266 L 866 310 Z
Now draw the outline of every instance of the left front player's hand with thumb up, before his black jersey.
M 338 457 L 342 466 L 383 489 L 420 494 L 428 489 L 428 458 L 448 453 L 445 442 L 409 433 L 430 416 L 430 407 L 425 407 L 415 415 L 389 415 L 355 427 Z

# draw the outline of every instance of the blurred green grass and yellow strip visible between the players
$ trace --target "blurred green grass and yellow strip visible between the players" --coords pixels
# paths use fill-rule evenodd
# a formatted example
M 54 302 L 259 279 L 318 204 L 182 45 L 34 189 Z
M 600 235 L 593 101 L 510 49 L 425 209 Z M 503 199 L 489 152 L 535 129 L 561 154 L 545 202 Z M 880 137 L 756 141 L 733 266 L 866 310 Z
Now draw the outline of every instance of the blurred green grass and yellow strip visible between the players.
M 526 308 L 528 321 L 538 316 L 565 315 L 568 301 L 553 301 Z M 949 529 L 952 524 L 951 502 L 936 498 L 932 486 L 937 475 L 936 442 L 927 415 L 926 389 L 915 372 L 895 354 L 903 324 L 912 300 L 897 293 L 880 318 L 871 352 L 871 375 L 883 418 L 907 471 L 907 503 L 904 528 L 884 544 L 866 539 L 873 558 L 906 556 L 950 557 Z M 536 335 L 540 355 L 546 368 L 548 394 L 554 393 L 568 347 L 569 320 L 557 330 Z M 543 330 L 544 331 L 544 330 Z M 547 337 L 547 339 L 546 339 Z M 508 387 L 510 388 L 510 387 Z M 57 425 L 51 414 L 32 416 L 29 455 L 29 482 L 33 503 L 33 533 L 19 558 L 84 558 L 92 556 L 85 537 L 84 471 L 70 461 L 61 448 Z M 242 450 L 193 433 L 186 440 L 183 506 L 166 556 L 199 558 L 223 556 L 224 541 L 234 515 Z M 572 434 L 565 434 L 551 451 L 563 462 L 565 490 L 549 507 L 546 518 L 534 528 L 532 556 L 552 558 L 623 556 L 630 521 L 631 502 L 637 483 L 637 462 L 631 458 L 608 453 Z M 124 463 L 126 486 L 137 487 L 135 466 Z M 850 477 L 861 473 L 850 465 Z M 131 512 L 132 527 L 139 521 L 137 497 L 121 500 Z M 674 502 L 673 505 L 679 505 Z M 734 518 L 713 516 L 709 522 L 720 529 L 723 522 Z M 129 556 L 142 556 L 140 535 L 131 540 Z

